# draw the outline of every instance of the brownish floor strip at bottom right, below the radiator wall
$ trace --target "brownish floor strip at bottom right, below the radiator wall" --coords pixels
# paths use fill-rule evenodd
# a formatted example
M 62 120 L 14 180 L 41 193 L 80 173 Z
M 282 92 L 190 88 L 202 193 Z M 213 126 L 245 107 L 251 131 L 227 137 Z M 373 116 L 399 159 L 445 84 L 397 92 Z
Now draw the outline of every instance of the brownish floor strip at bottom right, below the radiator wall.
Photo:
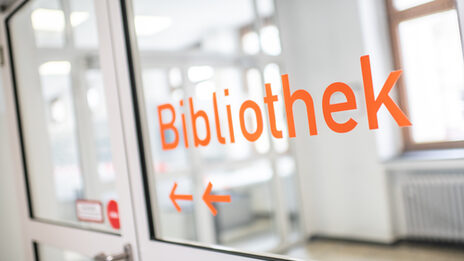
M 398 243 L 383 246 L 337 240 L 315 240 L 287 255 L 316 261 L 464 261 L 464 246 Z

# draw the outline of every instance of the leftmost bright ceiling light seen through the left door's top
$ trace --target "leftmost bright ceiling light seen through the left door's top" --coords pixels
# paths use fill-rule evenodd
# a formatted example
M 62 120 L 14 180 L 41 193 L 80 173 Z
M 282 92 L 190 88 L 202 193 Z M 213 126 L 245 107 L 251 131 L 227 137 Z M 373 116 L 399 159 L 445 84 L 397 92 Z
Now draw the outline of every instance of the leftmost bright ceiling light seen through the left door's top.
M 61 32 L 64 30 L 63 11 L 38 8 L 31 14 L 32 27 L 37 31 Z

